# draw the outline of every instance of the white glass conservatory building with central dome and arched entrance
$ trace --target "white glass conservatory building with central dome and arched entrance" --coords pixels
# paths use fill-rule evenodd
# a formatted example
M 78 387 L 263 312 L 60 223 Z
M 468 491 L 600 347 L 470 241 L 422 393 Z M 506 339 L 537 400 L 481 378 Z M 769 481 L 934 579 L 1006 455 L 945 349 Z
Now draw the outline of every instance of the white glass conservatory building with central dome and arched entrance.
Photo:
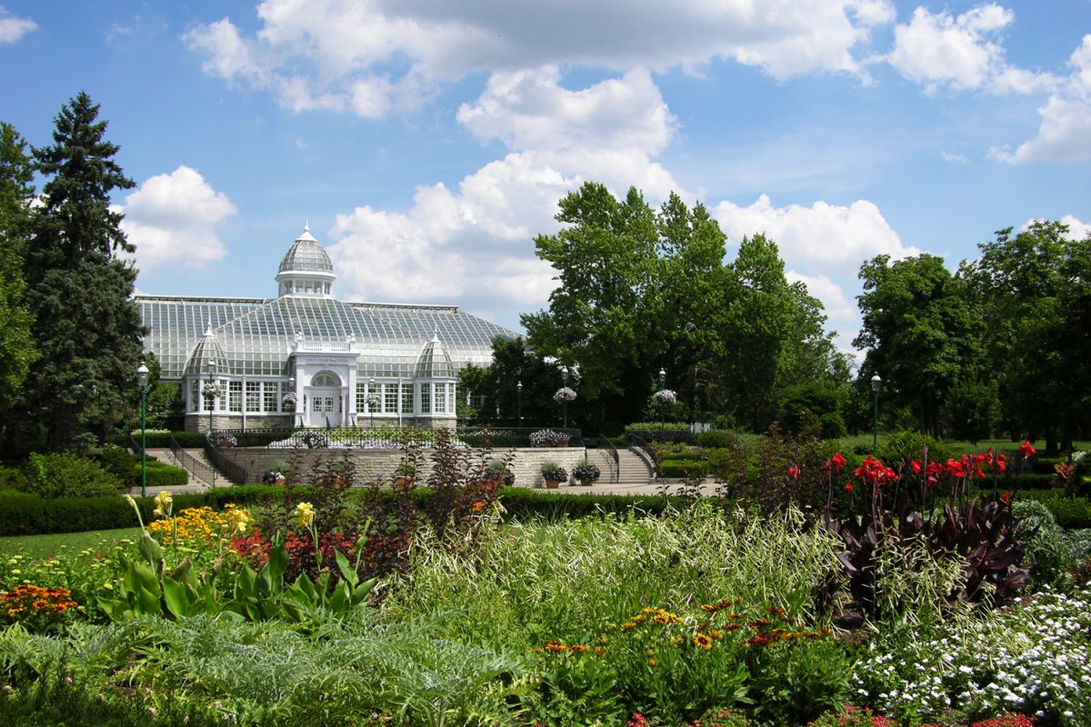
M 454 426 L 459 369 L 488 366 L 493 338 L 515 337 L 453 305 L 338 301 L 334 280 L 304 228 L 274 299 L 135 296 L 187 429 Z

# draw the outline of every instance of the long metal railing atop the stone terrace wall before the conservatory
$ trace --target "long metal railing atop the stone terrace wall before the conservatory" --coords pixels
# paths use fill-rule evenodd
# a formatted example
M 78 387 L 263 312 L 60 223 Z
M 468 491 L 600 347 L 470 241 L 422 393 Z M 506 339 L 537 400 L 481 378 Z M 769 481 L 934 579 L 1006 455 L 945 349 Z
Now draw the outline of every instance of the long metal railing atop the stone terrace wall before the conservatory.
M 404 449 L 435 445 L 439 429 L 409 427 L 348 427 L 328 429 L 278 427 L 266 429 L 216 429 L 213 439 L 229 447 L 269 449 Z M 451 431 L 456 443 L 469 447 L 582 447 L 579 429 L 562 427 L 471 426 Z M 213 460 L 217 467 L 218 462 Z

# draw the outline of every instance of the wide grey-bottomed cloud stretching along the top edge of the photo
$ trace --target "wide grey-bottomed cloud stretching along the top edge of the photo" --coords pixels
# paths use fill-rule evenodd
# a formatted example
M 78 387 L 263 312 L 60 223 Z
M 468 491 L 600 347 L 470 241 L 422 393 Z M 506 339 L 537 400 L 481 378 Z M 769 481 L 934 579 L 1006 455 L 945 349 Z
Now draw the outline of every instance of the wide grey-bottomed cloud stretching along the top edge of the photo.
M 243 36 L 225 17 L 183 39 L 206 73 L 269 90 L 278 102 L 365 117 L 411 108 L 439 83 L 548 65 L 698 69 L 734 60 L 776 78 L 864 75 L 871 28 L 889 0 L 266 0 Z M 578 19 L 578 21 L 574 21 Z

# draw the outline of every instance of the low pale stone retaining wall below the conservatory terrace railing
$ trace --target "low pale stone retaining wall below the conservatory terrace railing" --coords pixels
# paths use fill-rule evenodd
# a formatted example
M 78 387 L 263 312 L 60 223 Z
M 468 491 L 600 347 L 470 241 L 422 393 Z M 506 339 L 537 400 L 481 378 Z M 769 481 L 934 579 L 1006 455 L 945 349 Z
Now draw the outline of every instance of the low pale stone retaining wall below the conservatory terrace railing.
M 247 470 L 250 482 L 261 482 L 262 475 L 274 469 L 286 469 L 293 458 L 298 459 L 299 467 L 303 471 L 310 470 L 311 465 L 322 458 L 325 461 L 333 459 L 340 461 L 345 457 L 343 449 L 265 449 L 264 447 L 237 447 L 233 449 L 221 449 L 221 455 L 232 460 L 236 464 Z M 432 473 L 431 463 L 432 450 L 422 451 L 424 463 L 422 471 L 418 473 L 420 482 L 428 482 Z M 520 487 L 542 487 L 541 463 L 546 460 L 556 462 L 568 474 L 572 468 L 587 456 L 584 447 L 526 447 L 519 449 L 477 449 L 475 457 L 490 459 L 504 459 L 508 455 L 513 456 L 512 472 L 515 473 L 515 484 Z M 394 476 L 398 464 L 401 462 L 401 450 L 398 449 L 356 449 L 350 453 L 352 462 L 356 464 L 357 482 L 362 484 L 372 480 L 391 480 Z

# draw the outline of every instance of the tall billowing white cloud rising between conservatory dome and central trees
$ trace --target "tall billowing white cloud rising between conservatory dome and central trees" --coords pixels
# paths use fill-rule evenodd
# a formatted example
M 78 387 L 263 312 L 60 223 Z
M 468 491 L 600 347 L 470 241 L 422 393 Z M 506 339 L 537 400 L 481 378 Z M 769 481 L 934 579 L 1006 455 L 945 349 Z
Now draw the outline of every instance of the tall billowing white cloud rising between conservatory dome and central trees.
M 468 174 L 457 191 L 419 187 L 405 214 L 365 206 L 339 216 L 329 254 L 341 295 L 542 307 L 554 271 L 529 243 L 556 229 L 558 199 L 587 180 L 619 195 L 635 185 L 651 199 L 680 190 L 652 160 L 673 120 L 642 71 L 578 92 L 562 88 L 550 68 L 497 74 L 458 120 L 478 138 L 519 150 Z

